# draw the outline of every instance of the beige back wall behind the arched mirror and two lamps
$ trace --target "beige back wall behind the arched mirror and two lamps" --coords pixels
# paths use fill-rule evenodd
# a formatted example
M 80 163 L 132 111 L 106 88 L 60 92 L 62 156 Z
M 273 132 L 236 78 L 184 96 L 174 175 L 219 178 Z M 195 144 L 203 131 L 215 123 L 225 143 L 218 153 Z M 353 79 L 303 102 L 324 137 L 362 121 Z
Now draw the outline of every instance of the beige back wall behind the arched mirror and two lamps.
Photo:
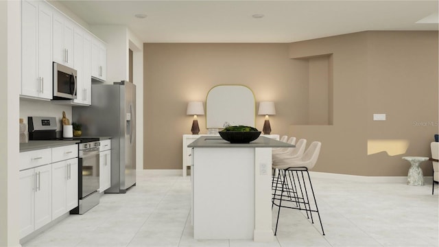
M 270 116 L 272 133 L 288 131 L 296 115 L 291 104 L 300 102 L 293 79 L 294 62 L 288 44 L 150 44 L 144 45 L 144 167 L 181 169 L 182 134 L 191 134 L 192 116 L 187 102 L 206 101 L 219 84 L 243 84 L 256 101 L 276 102 Z M 300 62 L 296 62 L 300 64 Z M 256 128 L 262 130 L 263 116 Z M 206 118 L 198 116 L 200 134 Z

